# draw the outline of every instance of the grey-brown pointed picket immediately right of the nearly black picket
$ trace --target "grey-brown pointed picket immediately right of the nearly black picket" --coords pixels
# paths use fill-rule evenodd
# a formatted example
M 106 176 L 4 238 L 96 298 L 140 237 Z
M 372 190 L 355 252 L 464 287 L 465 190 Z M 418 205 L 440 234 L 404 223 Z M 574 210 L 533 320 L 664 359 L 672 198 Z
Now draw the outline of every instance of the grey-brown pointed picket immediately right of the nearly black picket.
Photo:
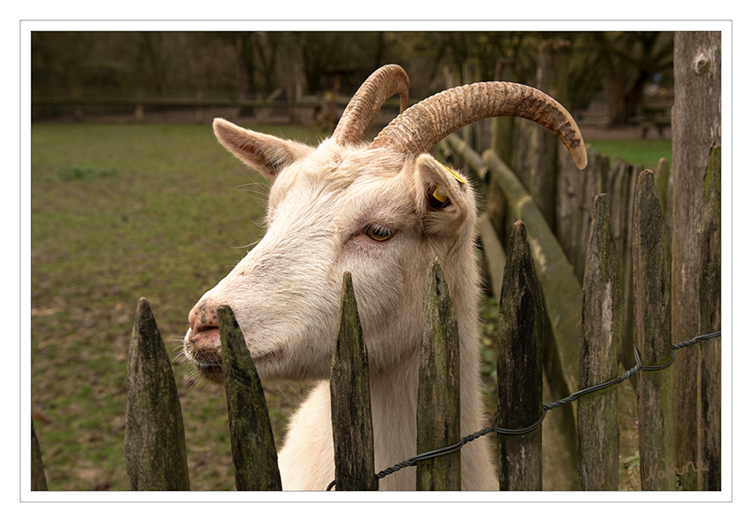
M 624 323 L 624 294 L 618 249 L 605 194 L 595 197 L 590 246 L 582 284 L 579 388 L 618 377 Z M 577 457 L 584 491 L 618 489 L 618 388 L 579 398 Z

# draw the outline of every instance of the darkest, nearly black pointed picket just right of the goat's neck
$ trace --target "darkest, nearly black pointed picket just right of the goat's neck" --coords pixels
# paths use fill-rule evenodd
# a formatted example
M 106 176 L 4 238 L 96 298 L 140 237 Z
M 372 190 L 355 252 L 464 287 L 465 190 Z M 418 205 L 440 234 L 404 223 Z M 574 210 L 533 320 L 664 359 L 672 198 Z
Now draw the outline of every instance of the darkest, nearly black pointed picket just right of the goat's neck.
M 532 426 L 543 403 L 543 305 L 522 221 L 512 226 L 499 303 L 496 377 L 498 427 Z M 499 487 L 543 488 L 542 426 L 528 434 L 497 438 Z

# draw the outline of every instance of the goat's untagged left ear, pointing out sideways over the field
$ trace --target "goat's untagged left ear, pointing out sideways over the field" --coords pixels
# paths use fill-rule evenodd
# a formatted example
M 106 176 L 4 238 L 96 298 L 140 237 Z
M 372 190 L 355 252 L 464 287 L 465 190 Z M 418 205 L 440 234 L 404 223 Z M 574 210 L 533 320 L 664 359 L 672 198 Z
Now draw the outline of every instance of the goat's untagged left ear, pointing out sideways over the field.
M 221 118 L 214 119 L 214 135 L 226 150 L 271 180 L 311 151 L 311 147 L 303 143 L 256 133 Z

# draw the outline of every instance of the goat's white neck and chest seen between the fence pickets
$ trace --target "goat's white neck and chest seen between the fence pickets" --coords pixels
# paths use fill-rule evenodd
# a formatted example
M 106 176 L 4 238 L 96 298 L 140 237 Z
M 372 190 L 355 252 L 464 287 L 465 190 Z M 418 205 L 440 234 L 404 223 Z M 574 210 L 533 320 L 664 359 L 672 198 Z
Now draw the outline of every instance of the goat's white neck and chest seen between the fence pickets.
M 467 250 L 472 256 L 472 249 Z M 460 342 L 461 433 L 471 434 L 487 426 L 480 405 L 480 359 L 478 357 L 478 275 L 474 258 L 464 264 L 446 263 Z M 461 269 L 464 267 L 464 269 Z M 461 278 L 461 279 L 460 279 Z M 453 282 L 461 283 L 453 284 Z M 415 326 L 420 330 L 419 325 Z M 386 371 L 370 375 L 373 446 L 376 472 L 417 454 L 418 362 L 420 337 L 397 338 L 399 353 L 410 354 Z M 328 382 L 319 383 L 288 426 L 285 449 L 280 452 L 283 485 L 291 489 L 323 489 L 334 478 L 332 419 Z M 464 487 L 497 488 L 490 466 L 488 441 L 473 441 L 463 449 Z M 415 467 L 407 467 L 380 480 L 381 490 L 415 488 Z

